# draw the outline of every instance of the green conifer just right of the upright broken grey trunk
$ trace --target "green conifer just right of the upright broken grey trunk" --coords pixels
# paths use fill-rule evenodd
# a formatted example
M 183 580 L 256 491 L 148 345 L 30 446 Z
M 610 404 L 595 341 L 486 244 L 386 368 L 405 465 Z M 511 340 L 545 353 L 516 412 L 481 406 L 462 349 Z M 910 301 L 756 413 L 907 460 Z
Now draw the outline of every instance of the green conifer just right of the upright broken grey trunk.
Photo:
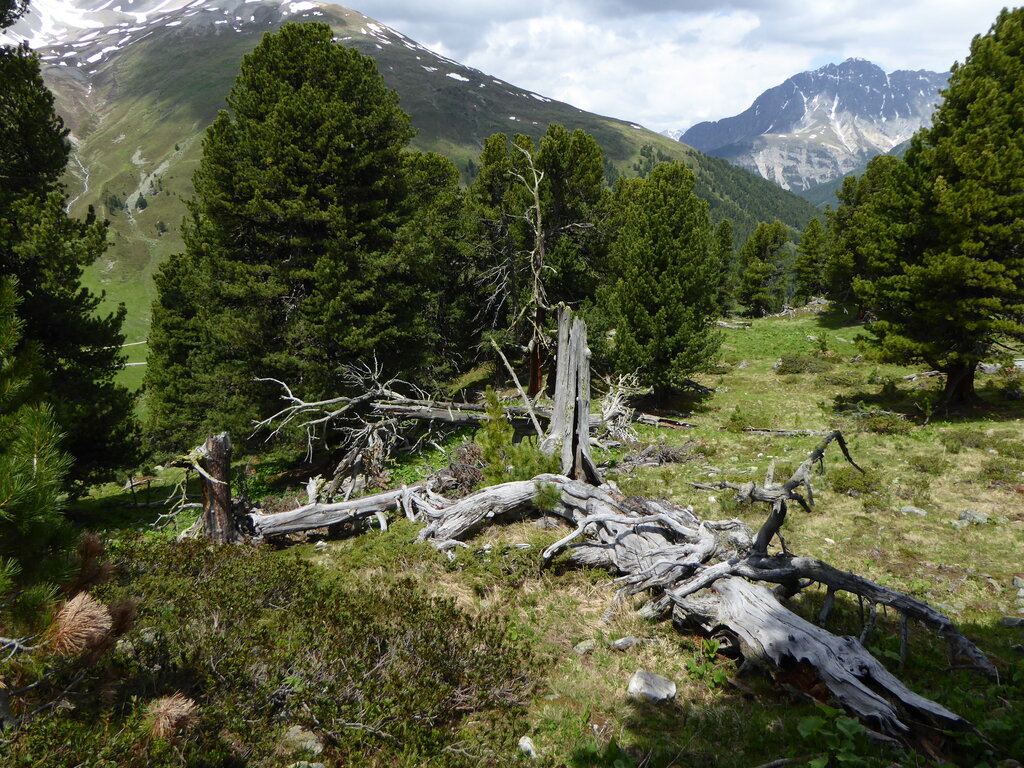
M 706 370 L 719 347 L 714 231 L 682 164 L 664 163 L 620 193 L 629 201 L 611 246 L 620 278 L 600 302 L 615 329 L 616 369 L 639 372 L 660 397 Z

